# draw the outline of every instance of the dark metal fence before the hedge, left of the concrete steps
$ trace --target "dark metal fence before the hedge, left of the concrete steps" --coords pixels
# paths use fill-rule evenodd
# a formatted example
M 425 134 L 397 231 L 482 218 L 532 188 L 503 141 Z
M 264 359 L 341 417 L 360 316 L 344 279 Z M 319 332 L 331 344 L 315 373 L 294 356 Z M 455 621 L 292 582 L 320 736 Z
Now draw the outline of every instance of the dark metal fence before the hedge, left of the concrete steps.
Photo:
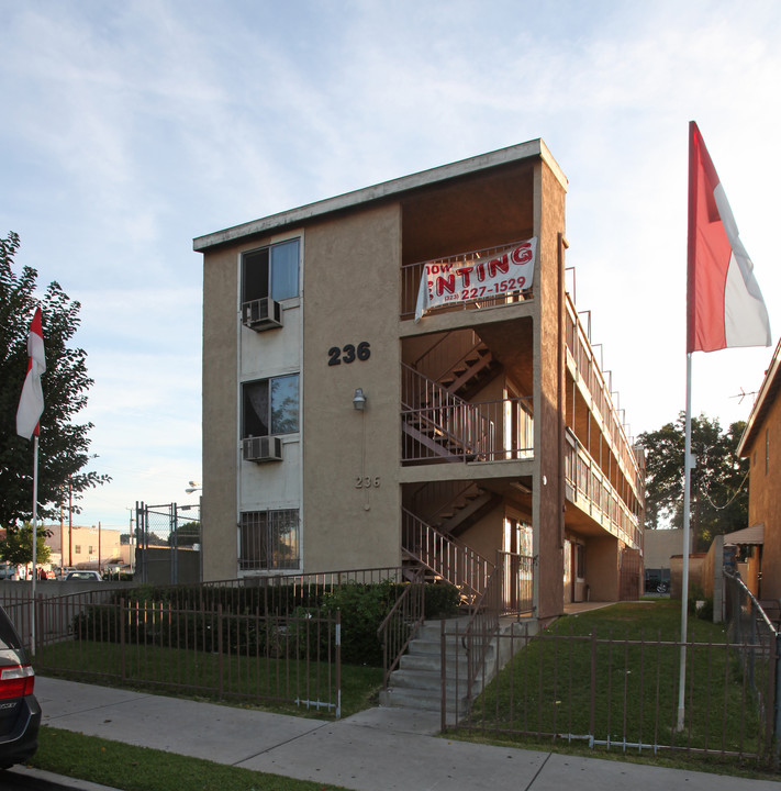
M 304 591 L 192 587 L 145 599 L 107 586 L 33 602 L 11 589 L 2 604 L 42 675 L 339 717 L 339 613 L 289 606 Z

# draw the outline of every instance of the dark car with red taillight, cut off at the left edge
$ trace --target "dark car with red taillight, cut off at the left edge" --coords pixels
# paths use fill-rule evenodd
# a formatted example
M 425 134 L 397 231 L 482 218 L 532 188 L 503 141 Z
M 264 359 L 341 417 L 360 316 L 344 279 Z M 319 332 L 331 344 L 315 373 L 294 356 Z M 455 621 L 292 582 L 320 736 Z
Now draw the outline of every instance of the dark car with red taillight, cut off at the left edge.
M 27 760 L 38 747 L 41 706 L 34 684 L 27 653 L 0 608 L 0 769 Z

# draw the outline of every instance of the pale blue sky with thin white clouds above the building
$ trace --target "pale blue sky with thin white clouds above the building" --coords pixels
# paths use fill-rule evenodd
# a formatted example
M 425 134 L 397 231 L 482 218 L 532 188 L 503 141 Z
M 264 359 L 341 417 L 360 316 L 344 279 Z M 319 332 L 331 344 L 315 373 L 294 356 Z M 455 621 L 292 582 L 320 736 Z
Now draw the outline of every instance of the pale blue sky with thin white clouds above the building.
M 96 383 L 79 524 L 192 502 L 192 238 L 542 137 L 567 264 L 633 435 L 685 405 L 688 122 L 781 331 L 781 3 L 0 0 L 0 235 L 81 302 Z M 745 420 L 769 349 L 694 355 L 693 411 Z M 20 382 L 21 387 L 21 382 Z

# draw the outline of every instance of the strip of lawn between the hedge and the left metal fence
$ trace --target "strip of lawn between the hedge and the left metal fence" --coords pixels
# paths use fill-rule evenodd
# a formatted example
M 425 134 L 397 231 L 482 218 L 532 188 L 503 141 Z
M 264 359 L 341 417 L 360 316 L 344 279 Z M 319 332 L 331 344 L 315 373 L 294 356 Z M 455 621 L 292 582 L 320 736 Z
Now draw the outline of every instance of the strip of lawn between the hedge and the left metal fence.
M 328 717 L 337 703 L 335 667 L 157 646 L 68 640 L 35 657 L 41 676 Z M 376 705 L 382 669 L 342 665 L 342 716 Z M 301 701 L 295 704 L 295 701 Z M 316 703 L 321 702 L 321 706 Z M 331 705 L 328 705 L 331 704 Z

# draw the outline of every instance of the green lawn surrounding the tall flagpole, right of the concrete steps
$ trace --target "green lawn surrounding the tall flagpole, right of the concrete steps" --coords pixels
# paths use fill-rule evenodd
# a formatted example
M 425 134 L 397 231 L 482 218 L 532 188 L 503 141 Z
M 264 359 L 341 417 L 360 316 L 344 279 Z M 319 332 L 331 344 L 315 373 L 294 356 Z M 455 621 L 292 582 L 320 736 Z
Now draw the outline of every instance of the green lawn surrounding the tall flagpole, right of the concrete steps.
M 558 619 L 487 687 L 466 731 L 546 750 L 593 740 L 598 753 L 692 759 L 707 750 L 710 762 L 757 765 L 763 722 L 721 625 L 690 622 L 698 645 L 687 651 L 685 725 L 677 729 L 679 628 L 680 605 L 669 600 Z

